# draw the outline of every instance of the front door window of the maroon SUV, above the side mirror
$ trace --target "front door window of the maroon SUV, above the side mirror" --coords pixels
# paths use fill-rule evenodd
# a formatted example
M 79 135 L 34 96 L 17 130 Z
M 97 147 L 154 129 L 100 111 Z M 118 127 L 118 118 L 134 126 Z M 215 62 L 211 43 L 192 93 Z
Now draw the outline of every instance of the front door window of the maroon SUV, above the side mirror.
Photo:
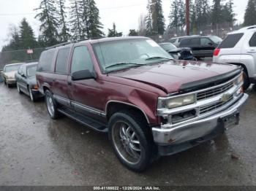
M 80 70 L 94 70 L 94 64 L 91 61 L 91 55 L 86 46 L 75 47 L 73 52 L 71 73 Z

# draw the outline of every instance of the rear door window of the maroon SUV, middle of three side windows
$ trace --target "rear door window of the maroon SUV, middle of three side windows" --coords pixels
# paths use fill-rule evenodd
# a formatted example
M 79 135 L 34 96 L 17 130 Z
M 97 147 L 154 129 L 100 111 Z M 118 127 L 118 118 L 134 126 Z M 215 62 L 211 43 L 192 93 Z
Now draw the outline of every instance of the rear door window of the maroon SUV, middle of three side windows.
M 69 59 L 69 47 L 62 48 L 58 52 L 57 60 L 56 60 L 56 73 L 59 74 L 67 74 L 67 63 Z

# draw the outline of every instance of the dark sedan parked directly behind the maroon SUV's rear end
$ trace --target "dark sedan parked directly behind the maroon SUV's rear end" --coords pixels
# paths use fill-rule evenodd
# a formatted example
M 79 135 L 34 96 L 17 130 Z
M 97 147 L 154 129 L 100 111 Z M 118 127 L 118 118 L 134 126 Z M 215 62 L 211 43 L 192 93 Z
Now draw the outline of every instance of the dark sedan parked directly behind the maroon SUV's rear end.
M 36 79 L 37 64 L 25 63 L 19 67 L 18 72 L 15 74 L 18 93 L 29 95 L 31 101 L 37 101 L 38 98 L 42 97 L 42 94 L 39 93 Z

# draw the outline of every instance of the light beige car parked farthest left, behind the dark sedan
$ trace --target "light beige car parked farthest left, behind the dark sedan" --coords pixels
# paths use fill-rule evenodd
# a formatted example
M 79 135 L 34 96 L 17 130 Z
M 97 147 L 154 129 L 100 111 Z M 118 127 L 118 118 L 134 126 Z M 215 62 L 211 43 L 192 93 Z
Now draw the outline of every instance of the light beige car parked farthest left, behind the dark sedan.
M 4 78 L 4 84 L 7 85 L 7 87 L 16 85 L 15 73 L 22 64 L 23 63 L 12 63 L 4 66 L 2 77 Z

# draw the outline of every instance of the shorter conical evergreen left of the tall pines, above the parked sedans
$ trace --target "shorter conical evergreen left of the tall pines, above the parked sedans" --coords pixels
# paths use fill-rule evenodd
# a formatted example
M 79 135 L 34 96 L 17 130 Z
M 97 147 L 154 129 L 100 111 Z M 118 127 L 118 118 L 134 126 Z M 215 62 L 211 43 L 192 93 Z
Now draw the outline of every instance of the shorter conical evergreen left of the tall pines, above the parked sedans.
M 29 49 L 37 47 L 37 41 L 34 37 L 34 31 L 29 25 L 29 23 L 26 21 L 26 18 L 23 18 L 23 20 L 20 23 L 20 48 L 22 49 Z

